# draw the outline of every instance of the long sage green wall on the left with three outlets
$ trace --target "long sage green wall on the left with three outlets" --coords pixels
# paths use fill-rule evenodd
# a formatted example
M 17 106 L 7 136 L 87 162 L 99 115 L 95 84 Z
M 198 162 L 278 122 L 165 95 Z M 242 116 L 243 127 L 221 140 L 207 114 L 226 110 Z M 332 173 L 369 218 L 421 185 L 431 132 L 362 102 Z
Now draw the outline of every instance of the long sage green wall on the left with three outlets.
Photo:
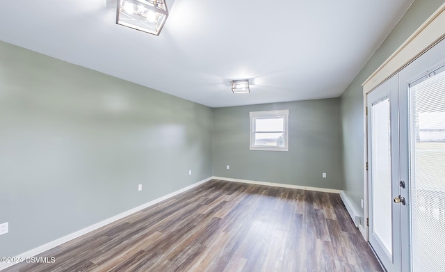
M 0 42 L 0 256 L 211 177 L 212 114 Z

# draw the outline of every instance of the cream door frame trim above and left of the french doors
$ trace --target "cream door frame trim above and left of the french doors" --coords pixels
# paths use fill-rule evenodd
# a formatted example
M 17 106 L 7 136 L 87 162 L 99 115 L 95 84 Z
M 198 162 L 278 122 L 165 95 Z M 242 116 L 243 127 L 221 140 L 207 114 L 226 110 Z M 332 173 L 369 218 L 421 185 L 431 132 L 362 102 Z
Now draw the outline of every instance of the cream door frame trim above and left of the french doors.
M 435 13 L 426 19 L 419 29 L 416 29 L 403 44 L 394 51 L 387 60 L 378 67 L 371 76 L 362 83 L 363 87 L 363 189 L 364 189 L 364 222 L 359 224 L 359 230 L 366 241 L 369 241 L 369 199 L 368 199 L 368 118 L 366 115 L 367 95 L 372 90 L 380 86 L 381 83 L 389 79 L 406 65 L 414 61 L 424 52 L 445 38 L 445 3 L 440 6 Z

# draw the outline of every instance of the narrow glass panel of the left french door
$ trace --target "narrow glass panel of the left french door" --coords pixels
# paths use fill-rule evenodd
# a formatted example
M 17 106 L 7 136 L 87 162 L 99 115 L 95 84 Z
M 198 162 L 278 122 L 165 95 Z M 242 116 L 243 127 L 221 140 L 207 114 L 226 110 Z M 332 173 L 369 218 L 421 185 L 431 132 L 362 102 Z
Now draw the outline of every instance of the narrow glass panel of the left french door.
M 385 253 L 392 255 L 392 211 L 391 211 L 391 133 L 389 98 L 372 105 L 372 193 L 373 233 Z

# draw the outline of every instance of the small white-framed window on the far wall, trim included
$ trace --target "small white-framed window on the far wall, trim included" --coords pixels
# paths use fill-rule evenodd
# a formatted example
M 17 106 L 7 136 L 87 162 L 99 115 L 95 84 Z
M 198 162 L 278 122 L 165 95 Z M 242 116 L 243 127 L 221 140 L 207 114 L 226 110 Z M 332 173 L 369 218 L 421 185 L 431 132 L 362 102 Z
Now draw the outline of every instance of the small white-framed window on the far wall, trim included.
M 250 112 L 250 150 L 288 151 L 289 110 Z

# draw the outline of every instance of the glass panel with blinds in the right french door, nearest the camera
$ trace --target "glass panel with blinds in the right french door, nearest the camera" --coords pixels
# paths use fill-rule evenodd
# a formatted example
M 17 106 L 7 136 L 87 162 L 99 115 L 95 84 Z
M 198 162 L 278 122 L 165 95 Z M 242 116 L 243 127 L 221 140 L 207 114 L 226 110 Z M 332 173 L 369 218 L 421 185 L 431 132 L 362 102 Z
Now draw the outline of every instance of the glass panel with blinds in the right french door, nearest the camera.
M 445 72 L 410 87 L 412 270 L 445 271 Z

